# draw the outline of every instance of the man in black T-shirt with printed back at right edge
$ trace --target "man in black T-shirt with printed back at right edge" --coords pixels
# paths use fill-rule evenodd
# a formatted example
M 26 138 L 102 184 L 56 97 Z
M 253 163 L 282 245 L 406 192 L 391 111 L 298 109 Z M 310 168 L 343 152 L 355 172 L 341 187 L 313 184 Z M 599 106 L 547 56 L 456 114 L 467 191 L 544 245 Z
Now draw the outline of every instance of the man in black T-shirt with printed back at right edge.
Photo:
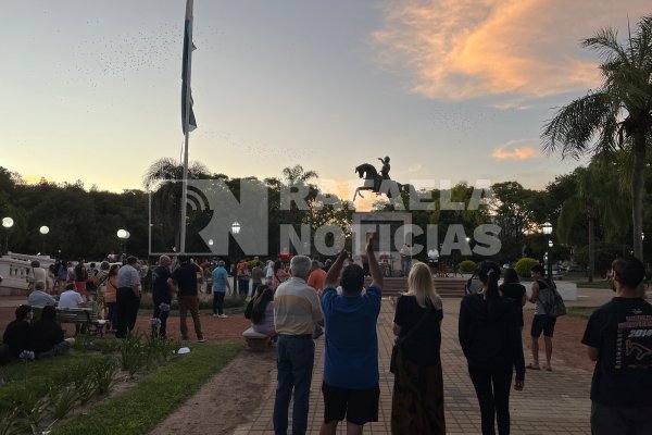
M 638 290 L 644 273 L 636 258 L 614 260 L 616 297 L 591 314 L 581 339 L 595 361 L 594 435 L 652 434 L 652 306 Z

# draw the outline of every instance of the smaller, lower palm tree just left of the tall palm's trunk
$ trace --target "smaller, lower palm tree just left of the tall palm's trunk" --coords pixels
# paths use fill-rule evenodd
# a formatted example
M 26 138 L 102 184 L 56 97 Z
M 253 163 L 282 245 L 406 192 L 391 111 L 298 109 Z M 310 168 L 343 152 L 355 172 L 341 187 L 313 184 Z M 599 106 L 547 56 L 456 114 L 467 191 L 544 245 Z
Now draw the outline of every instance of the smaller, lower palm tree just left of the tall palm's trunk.
M 577 177 L 577 190 L 562 204 L 557 217 L 557 237 L 560 241 L 570 241 L 573 224 L 579 216 L 588 221 L 589 241 L 589 283 L 593 282 L 595 272 L 595 229 L 602 224 L 606 238 L 615 238 L 627 233 L 626 224 L 627 200 L 618 187 L 614 174 L 598 162 L 588 167 L 578 167 L 574 175 Z M 625 222 L 625 224 L 624 224 Z

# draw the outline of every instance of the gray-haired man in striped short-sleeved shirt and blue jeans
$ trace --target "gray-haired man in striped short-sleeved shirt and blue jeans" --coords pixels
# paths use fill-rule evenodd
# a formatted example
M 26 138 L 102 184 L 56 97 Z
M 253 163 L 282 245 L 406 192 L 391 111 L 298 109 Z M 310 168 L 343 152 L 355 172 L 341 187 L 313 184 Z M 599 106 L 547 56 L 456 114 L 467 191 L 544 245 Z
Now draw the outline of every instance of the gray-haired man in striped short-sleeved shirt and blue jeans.
M 274 324 L 278 333 L 276 345 L 277 386 L 274 401 L 274 432 L 288 432 L 288 408 L 292 389 L 292 434 L 305 434 L 310 384 L 315 362 L 313 332 L 323 324 L 322 308 L 314 288 L 306 284 L 311 260 L 296 256 L 290 261 L 292 276 L 274 294 Z

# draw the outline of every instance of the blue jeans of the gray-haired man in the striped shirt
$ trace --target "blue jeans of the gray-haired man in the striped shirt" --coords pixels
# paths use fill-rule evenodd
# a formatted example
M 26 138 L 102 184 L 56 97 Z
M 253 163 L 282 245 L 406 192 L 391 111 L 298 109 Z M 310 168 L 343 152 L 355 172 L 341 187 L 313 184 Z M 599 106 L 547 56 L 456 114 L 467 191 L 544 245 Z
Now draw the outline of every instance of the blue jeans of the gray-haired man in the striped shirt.
M 308 428 L 310 383 L 315 362 L 312 334 L 279 335 L 276 341 L 276 399 L 274 401 L 274 433 L 288 433 L 288 408 L 294 390 L 292 435 L 303 435 Z

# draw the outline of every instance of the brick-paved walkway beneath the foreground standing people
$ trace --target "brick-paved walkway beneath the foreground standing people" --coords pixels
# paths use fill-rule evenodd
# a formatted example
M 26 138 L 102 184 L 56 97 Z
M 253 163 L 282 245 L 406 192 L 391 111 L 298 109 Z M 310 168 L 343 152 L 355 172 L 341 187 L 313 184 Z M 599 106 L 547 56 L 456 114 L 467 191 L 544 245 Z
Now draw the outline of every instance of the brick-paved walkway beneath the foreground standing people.
M 609 294 L 605 293 L 605 296 Z M 586 304 L 586 301 L 585 301 Z M 449 434 L 479 434 L 480 413 L 473 384 L 466 371 L 466 360 L 457 343 L 460 299 L 444 299 L 441 361 L 443 365 L 446 424 Z M 389 373 L 389 358 L 393 344 L 391 324 L 393 309 L 384 300 L 378 319 L 380 407 L 379 421 L 365 425 L 366 434 L 390 434 L 391 391 L 393 375 Z M 584 349 L 581 356 L 584 357 Z M 578 351 L 579 351 L 578 350 Z M 526 353 L 526 361 L 529 360 Z M 554 364 L 553 364 L 554 365 Z M 309 433 L 318 434 L 324 414 L 321 385 L 324 369 L 324 339 L 316 341 L 315 370 L 311 388 Z M 275 383 L 276 372 L 271 373 Z M 589 390 L 591 374 L 577 369 L 556 365 L 554 372 L 527 371 L 525 389 L 512 389 L 510 409 L 513 434 L 590 434 Z M 235 435 L 274 434 L 272 414 L 274 389 L 263 400 L 253 421 L 238 426 Z M 291 413 L 291 405 L 290 405 Z M 291 423 L 290 423 L 291 426 Z M 339 424 L 338 433 L 346 433 Z

